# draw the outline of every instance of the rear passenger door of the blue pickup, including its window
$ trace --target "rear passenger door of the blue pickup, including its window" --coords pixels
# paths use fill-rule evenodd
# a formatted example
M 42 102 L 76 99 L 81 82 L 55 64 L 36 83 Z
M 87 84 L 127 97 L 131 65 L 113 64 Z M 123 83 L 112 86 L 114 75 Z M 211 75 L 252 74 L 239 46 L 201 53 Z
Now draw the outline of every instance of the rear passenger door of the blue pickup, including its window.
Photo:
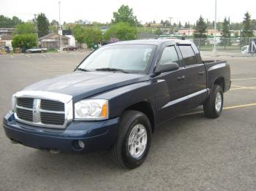
M 199 106 L 206 100 L 206 67 L 200 59 L 197 47 L 191 44 L 179 44 L 187 77 L 189 108 Z

